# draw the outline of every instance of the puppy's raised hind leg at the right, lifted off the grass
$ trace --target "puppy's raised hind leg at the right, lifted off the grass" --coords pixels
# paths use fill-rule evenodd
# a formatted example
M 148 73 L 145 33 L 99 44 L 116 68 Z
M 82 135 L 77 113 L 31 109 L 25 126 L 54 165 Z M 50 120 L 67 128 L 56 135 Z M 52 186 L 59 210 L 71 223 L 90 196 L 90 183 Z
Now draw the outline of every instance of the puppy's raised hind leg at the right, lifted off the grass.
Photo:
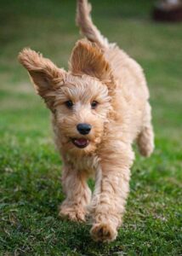
M 147 102 L 142 129 L 137 137 L 139 153 L 148 157 L 154 150 L 154 132 L 151 125 L 151 106 Z

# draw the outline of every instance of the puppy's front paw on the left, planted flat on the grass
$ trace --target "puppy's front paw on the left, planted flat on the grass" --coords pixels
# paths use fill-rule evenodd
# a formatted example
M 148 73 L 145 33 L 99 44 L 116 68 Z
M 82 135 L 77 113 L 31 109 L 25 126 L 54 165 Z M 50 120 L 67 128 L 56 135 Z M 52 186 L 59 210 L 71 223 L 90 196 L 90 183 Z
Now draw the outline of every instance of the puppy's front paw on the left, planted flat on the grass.
M 86 212 L 82 207 L 60 207 L 60 218 L 68 218 L 71 221 L 85 222 L 85 215 Z

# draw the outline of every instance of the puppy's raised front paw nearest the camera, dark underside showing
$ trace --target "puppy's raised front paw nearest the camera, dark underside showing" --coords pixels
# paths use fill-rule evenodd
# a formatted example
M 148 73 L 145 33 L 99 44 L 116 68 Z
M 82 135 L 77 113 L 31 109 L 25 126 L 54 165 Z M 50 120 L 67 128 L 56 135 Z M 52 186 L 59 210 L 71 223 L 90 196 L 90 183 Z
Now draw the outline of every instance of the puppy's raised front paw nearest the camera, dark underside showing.
M 94 224 L 90 234 L 94 241 L 113 241 L 117 237 L 117 229 L 107 223 Z

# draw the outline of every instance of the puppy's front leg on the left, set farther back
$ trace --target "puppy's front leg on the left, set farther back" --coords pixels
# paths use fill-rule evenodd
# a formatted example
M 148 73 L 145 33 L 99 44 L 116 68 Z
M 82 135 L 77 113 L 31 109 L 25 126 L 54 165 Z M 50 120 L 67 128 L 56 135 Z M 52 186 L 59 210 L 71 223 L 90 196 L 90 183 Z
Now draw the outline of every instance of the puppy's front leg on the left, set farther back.
M 62 185 L 66 198 L 60 206 L 60 217 L 73 221 L 85 221 L 87 205 L 91 198 L 87 173 L 76 171 L 71 166 L 65 166 Z

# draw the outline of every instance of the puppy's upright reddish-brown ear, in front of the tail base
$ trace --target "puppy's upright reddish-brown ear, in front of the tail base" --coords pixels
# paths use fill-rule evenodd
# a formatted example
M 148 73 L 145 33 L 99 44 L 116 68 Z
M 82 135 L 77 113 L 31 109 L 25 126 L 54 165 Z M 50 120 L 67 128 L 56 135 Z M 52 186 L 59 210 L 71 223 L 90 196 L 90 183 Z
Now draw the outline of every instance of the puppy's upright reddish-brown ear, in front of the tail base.
M 101 81 L 111 80 L 111 67 L 97 44 L 86 39 L 79 40 L 70 60 L 72 73 L 85 73 Z

